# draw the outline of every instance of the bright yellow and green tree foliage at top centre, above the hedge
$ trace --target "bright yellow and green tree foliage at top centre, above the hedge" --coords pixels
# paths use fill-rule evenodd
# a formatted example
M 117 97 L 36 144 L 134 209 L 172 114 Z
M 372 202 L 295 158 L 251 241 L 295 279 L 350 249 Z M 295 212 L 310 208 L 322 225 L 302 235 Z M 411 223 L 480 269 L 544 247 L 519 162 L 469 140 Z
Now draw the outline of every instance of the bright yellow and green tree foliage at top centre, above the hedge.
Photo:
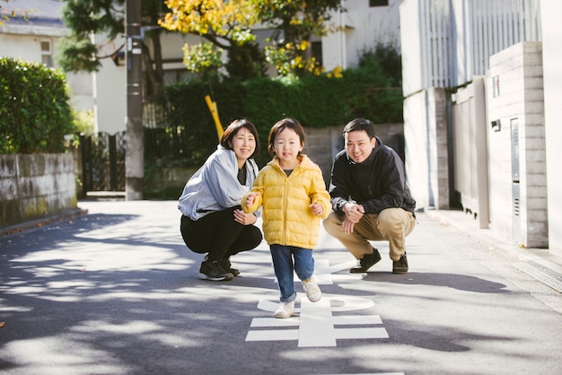
M 210 43 L 185 48 L 186 65 L 195 71 L 222 65 L 216 57 L 221 49 L 229 50 L 231 60 L 241 58 L 241 64 L 251 68 L 257 46 L 250 28 L 262 22 L 274 31 L 266 55 L 279 74 L 318 74 L 321 66 L 312 57 L 310 40 L 333 30 L 330 13 L 343 11 L 339 0 L 168 0 L 166 4 L 171 12 L 161 23 L 164 28 L 198 35 Z

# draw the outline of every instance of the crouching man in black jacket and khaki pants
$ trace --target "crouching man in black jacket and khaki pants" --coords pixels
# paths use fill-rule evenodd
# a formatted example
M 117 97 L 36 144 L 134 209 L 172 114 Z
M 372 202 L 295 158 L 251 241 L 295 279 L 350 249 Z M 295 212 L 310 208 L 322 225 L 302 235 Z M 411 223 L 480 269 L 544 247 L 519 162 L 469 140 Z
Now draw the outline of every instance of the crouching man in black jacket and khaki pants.
M 352 273 L 381 260 L 369 240 L 388 240 L 392 272 L 408 272 L 406 236 L 416 226 L 404 163 L 375 136 L 373 122 L 356 118 L 344 127 L 345 150 L 334 160 L 329 195 L 333 211 L 324 228 L 356 257 Z

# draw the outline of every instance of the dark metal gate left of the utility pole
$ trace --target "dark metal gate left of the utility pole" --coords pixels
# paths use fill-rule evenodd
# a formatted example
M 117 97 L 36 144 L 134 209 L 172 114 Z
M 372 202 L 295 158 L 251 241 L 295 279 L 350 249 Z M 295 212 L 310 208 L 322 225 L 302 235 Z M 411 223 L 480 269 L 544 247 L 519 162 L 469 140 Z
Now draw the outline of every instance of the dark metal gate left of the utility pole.
M 125 133 L 80 135 L 84 195 L 125 191 Z

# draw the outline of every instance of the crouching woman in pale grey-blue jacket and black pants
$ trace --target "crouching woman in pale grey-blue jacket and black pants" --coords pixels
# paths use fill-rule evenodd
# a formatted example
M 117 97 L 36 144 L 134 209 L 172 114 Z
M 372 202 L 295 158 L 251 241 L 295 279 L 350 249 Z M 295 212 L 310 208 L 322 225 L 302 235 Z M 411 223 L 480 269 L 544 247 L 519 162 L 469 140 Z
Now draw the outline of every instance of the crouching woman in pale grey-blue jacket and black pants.
M 262 240 L 257 217 L 241 210 L 241 197 L 258 176 L 253 156 L 258 131 L 246 119 L 234 120 L 205 164 L 189 179 L 180 196 L 180 231 L 192 251 L 206 254 L 199 277 L 228 281 L 239 275 L 230 257 L 256 248 Z

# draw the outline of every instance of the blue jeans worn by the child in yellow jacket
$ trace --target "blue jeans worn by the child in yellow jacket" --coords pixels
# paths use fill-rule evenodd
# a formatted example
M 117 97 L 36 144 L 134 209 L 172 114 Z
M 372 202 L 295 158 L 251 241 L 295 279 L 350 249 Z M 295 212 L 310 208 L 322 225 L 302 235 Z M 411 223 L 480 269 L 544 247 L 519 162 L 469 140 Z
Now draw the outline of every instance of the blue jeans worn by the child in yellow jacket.
M 292 246 L 270 245 L 273 267 L 279 283 L 279 299 L 291 302 L 296 299 L 294 292 L 294 273 L 299 279 L 308 280 L 314 274 L 312 249 L 294 248 Z M 293 261 L 294 259 L 294 261 Z

